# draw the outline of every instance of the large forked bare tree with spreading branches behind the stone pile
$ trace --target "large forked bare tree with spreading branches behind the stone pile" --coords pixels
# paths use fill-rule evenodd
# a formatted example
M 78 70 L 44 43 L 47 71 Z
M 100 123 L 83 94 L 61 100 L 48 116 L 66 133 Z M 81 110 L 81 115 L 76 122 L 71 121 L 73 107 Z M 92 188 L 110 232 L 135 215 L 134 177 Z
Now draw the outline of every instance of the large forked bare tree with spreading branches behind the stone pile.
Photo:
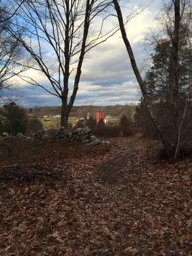
M 102 13 L 110 6 L 111 2 L 101 0 L 26 0 L 12 24 L 14 28 L 8 29 L 31 55 L 33 69 L 44 74 L 49 86 L 33 77 L 19 76 L 61 99 L 62 126 L 67 127 L 76 99 L 85 54 L 118 31 L 118 26 L 107 31 L 104 28 L 111 15 L 104 17 Z M 25 38 L 18 36 L 18 28 Z

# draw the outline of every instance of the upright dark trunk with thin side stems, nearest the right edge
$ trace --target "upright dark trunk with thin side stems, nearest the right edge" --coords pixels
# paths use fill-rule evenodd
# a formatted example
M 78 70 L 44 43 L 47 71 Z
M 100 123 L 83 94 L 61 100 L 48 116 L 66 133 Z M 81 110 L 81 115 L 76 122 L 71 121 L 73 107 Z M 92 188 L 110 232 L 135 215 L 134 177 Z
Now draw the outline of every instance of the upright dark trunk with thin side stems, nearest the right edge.
M 188 88 L 187 93 L 184 95 L 184 109 L 179 115 L 180 110 L 180 48 L 182 47 L 182 41 L 188 40 L 188 54 L 189 61 L 191 61 L 191 1 L 188 0 L 175 0 L 173 1 L 174 6 L 174 26 L 173 33 L 170 32 L 170 38 L 172 40 L 172 79 L 170 87 L 171 89 L 171 103 L 173 106 L 173 116 L 175 117 L 175 141 L 174 141 L 174 154 L 173 154 L 173 162 L 177 158 L 177 155 L 180 151 L 180 134 L 182 130 L 182 125 L 184 123 L 184 119 L 188 112 L 189 104 L 191 101 L 191 64 L 189 63 L 189 79 L 188 79 Z M 187 15 L 187 19 L 185 19 L 185 23 L 182 23 L 182 18 Z M 184 26 L 184 30 L 186 33 L 181 33 L 182 26 Z M 185 35 L 187 34 L 187 35 Z

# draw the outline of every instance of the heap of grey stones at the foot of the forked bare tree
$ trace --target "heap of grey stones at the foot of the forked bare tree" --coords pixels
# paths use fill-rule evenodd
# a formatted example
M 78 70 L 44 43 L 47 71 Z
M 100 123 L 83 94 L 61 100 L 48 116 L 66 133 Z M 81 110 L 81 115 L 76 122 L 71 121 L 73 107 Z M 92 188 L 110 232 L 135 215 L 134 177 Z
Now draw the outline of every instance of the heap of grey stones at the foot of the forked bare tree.
M 110 144 L 109 141 L 101 141 L 92 134 L 92 130 L 88 127 L 77 128 L 75 131 L 68 131 L 65 127 L 57 132 L 58 141 L 81 142 L 85 145 Z

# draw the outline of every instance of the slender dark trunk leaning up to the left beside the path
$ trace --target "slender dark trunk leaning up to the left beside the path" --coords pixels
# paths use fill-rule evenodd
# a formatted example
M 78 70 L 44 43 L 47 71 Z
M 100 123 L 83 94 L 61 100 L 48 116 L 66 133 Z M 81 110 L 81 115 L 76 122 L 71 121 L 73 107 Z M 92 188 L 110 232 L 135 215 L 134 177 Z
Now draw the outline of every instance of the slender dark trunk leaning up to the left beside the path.
M 142 79 L 140 71 L 138 70 L 138 67 L 136 65 L 136 61 L 135 61 L 135 58 L 134 58 L 134 54 L 132 52 L 131 44 L 129 43 L 129 40 L 127 38 L 127 34 L 126 34 L 126 31 L 125 31 L 125 26 L 124 26 L 124 20 L 123 20 L 123 17 L 122 17 L 122 12 L 120 10 L 120 6 L 118 4 L 118 0 L 113 0 L 113 3 L 114 3 L 116 14 L 117 14 L 117 17 L 118 17 L 118 22 L 119 22 L 119 25 L 120 25 L 120 31 L 122 33 L 122 38 L 124 40 L 124 44 L 125 44 L 125 47 L 127 49 L 127 53 L 128 53 L 129 58 L 131 60 L 132 70 L 134 71 L 134 74 L 136 76 L 138 84 L 140 85 L 140 89 L 141 89 L 141 93 L 143 95 L 143 100 L 144 100 L 145 106 L 147 108 L 147 111 L 150 115 L 150 118 L 151 118 L 153 124 L 155 125 L 155 127 L 157 129 L 157 132 L 159 133 L 159 137 L 161 138 L 161 141 L 163 143 L 163 147 L 166 150 L 166 154 L 170 158 L 170 157 L 173 156 L 173 147 L 170 145 L 168 139 L 164 135 L 163 129 L 161 128 L 161 125 L 157 121 L 156 116 L 154 116 L 153 111 L 152 111 L 152 106 L 150 106 L 150 104 L 148 104 L 148 97 L 147 97 L 147 93 L 145 91 L 145 86 L 144 86 L 144 83 L 143 83 L 143 79 Z

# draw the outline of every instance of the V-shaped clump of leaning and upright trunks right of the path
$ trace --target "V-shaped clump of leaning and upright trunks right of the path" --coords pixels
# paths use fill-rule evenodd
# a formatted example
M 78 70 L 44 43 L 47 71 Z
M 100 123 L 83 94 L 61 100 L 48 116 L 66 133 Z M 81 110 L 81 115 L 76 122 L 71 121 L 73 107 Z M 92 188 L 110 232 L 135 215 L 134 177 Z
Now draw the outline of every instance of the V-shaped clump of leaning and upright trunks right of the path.
M 168 158 L 171 161 L 175 161 L 176 157 L 179 155 L 179 151 L 180 151 L 180 131 L 182 128 L 182 124 L 184 121 L 184 117 L 186 115 L 188 106 L 189 106 L 189 102 L 191 99 L 191 79 L 189 79 L 189 83 L 186 86 L 187 90 L 186 90 L 186 94 L 184 97 L 184 104 L 185 107 L 183 108 L 182 111 L 182 115 L 180 117 L 178 110 L 180 108 L 180 102 L 179 102 L 179 79 L 180 79 L 180 74 L 179 74 L 179 61 L 180 61 L 180 56 L 179 56 L 179 47 L 180 47 L 180 26 L 182 23 L 182 18 L 184 17 L 184 13 L 189 14 L 189 19 L 191 20 L 191 8 L 190 8 L 190 4 L 188 4 L 189 1 L 187 0 L 172 0 L 172 4 L 169 6 L 169 10 L 168 13 L 172 13 L 172 7 L 173 7 L 173 27 L 172 24 L 170 22 L 172 22 L 172 19 L 170 19 L 170 16 L 166 16 L 166 20 L 168 20 L 168 26 L 167 26 L 167 32 L 170 33 L 170 40 L 172 42 L 172 60 L 170 63 L 170 67 L 171 67 L 171 74 L 172 77 L 170 79 L 170 104 L 172 104 L 172 107 L 174 109 L 173 111 L 173 115 L 175 116 L 175 140 L 173 141 L 173 145 L 172 143 L 170 143 L 169 138 L 166 136 L 166 134 L 164 134 L 162 125 L 159 124 L 159 120 L 157 118 L 156 115 L 154 115 L 154 109 L 153 109 L 153 104 L 150 100 L 150 97 L 148 95 L 147 92 L 147 88 L 146 88 L 146 84 L 143 81 L 141 74 L 140 74 L 140 70 L 138 69 L 137 65 L 136 65 L 136 60 L 134 58 L 134 54 L 132 52 L 132 47 L 131 44 L 127 38 L 127 33 L 125 30 L 125 26 L 124 26 L 124 20 L 123 20 L 123 16 L 122 16 L 122 11 L 120 8 L 120 4 L 118 3 L 118 0 L 113 0 L 113 4 L 115 6 L 115 10 L 116 10 L 116 14 L 118 17 L 118 22 L 120 25 L 120 31 L 122 33 L 122 38 L 124 40 L 124 44 L 125 47 L 127 49 L 127 53 L 129 54 L 129 58 L 131 60 L 131 65 L 132 65 L 132 69 L 134 71 L 134 74 L 136 76 L 136 79 L 138 81 L 138 84 L 140 85 L 140 89 L 141 89 L 141 93 L 143 95 L 143 101 L 145 103 L 145 106 L 147 107 L 148 113 L 150 115 L 150 118 L 153 122 L 153 124 L 155 125 L 158 133 L 159 133 L 159 137 L 161 138 L 161 141 L 163 143 L 163 146 L 166 150 L 166 154 L 168 156 Z M 181 8 L 180 8 L 181 6 Z M 189 7 L 188 9 L 186 7 Z M 187 25 L 187 24 L 185 24 Z M 191 51 L 189 51 L 191 54 Z M 190 72 L 189 72 L 190 74 Z M 190 76 L 189 76 L 190 77 Z

